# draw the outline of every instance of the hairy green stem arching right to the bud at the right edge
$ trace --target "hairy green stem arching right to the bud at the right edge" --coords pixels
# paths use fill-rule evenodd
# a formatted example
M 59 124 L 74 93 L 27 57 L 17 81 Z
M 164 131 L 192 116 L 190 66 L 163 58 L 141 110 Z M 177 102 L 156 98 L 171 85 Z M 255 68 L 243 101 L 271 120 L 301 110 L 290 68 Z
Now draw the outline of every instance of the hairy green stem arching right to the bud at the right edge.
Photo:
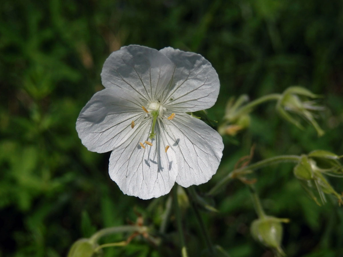
M 229 180 L 234 178 L 233 175 L 237 175 L 237 173 L 239 173 L 239 172 L 244 172 L 247 170 L 256 170 L 256 169 L 260 169 L 262 167 L 265 167 L 265 166 L 268 166 L 271 164 L 275 164 L 275 163 L 279 163 L 279 162 L 295 162 L 295 163 L 297 163 L 297 162 L 299 162 L 299 160 L 300 160 L 300 156 L 297 156 L 297 155 L 281 155 L 281 156 L 275 156 L 275 157 L 271 157 L 268 159 L 264 159 L 262 161 L 258 161 L 256 163 L 253 163 L 249 166 L 245 166 L 243 168 L 233 170 L 224 179 L 222 179 L 214 187 L 212 187 L 211 190 L 207 194 L 208 195 L 214 195 L 218 191 L 218 189 L 220 189 L 223 185 L 225 185 Z

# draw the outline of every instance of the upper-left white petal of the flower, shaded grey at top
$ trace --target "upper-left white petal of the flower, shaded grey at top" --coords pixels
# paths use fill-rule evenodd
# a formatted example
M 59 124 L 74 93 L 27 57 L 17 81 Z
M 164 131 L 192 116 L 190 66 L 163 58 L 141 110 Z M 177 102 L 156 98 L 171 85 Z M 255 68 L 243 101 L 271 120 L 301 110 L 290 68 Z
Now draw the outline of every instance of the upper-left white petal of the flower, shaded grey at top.
M 145 101 L 156 101 L 173 70 L 173 63 L 158 50 L 130 45 L 110 54 L 101 78 L 105 87 L 123 88 L 136 92 Z

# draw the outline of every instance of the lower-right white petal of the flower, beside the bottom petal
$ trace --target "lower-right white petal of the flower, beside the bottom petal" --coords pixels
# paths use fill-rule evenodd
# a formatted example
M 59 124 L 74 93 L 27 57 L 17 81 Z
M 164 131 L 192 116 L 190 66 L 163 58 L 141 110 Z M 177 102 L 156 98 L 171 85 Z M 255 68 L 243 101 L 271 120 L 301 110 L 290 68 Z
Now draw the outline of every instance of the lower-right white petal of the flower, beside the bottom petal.
M 177 142 L 176 183 L 188 187 L 209 181 L 218 169 L 224 148 L 218 132 L 188 114 L 175 115 L 166 130 Z

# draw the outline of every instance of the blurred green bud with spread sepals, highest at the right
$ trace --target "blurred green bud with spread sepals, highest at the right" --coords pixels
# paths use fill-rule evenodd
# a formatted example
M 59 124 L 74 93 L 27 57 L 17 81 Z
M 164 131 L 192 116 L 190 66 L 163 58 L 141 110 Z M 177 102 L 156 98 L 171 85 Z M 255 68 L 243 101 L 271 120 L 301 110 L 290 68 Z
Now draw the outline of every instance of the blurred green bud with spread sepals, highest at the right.
M 308 98 L 318 98 L 318 95 L 313 94 L 311 91 L 303 87 L 289 87 L 287 88 L 282 97 L 279 99 L 276 105 L 276 110 L 287 121 L 296 125 L 299 129 L 304 130 L 303 125 L 294 118 L 289 112 L 293 112 L 303 119 L 307 120 L 314 126 L 318 136 L 322 136 L 324 131 L 319 127 L 315 118 L 313 117 L 313 111 L 322 111 L 322 106 L 317 106 L 314 101 L 309 101 Z

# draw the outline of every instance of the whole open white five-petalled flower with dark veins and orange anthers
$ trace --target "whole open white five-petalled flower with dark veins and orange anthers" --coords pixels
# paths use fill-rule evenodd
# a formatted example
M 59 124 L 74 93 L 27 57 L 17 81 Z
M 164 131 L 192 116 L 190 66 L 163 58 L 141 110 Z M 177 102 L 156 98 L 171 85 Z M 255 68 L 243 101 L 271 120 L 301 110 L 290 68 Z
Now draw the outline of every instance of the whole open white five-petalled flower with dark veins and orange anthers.
M 216 172 L 221 136 L 186 112 L 214 105 L 219 80 L 201 55 L 130 45 L 113 52 L 105 89 L 81 110 L 76 130 L 90 151 L 112 151 L 109 175 L 128 195 L 167 194 L 175 181 L 199 185 Z

